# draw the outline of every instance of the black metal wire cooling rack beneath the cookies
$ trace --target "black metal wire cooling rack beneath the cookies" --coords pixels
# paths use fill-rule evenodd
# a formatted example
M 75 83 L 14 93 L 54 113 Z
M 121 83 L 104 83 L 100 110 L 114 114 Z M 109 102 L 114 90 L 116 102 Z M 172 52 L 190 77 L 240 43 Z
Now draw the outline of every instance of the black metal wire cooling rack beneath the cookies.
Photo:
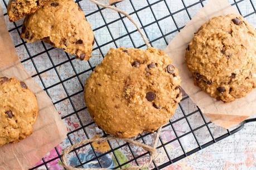
M 84 3 L 85 1 L 86 1 L 86 3 L 89 3 L 89 2 L 87 2 L 87 0 L 78 0 L 78 1 L 76 1 L 76 3 L 78 3 L 79 6 L 81 6 L 80 3 Z M 250 12 L 250 13 L 247 13 L 247 14 L 244 14 L 244 15 L 243 15 L 243 13 L 241 13 L 239 6 L 240 6 L 240 3 L 244 3 L 244 2 L 247 2 L 250 6 L 252 6 L 253 12 Z M 4 3 L 4 6 L 7 7 L 6 0 L 3 0 L 3 3 Z M 189 19 L 191 19 L 191 14 L 190 14 L 190 10 L 189 9 L 193 8 L 195 6 L 197 6 L 197 7 L 198 6 L 204 7 L 204 4 L 206 3 L 206 1 L 205 0 L 200 0 L 200 1 L 196 1 L 196 2 L 193 1 L 193 3 L 190 3 L 189 5 L 187 5 L 187 2 L 185 0 L 181 0 L 181 3 L 183 5 L 183 7 L 181 9 L 178 9 L 175 12 L 170 10 L 170 8 L 168 6 L 168 1 L 167 0 L 158 0 L 158 1 L 157 0 L 145 0 L 146 5 L 144 7 L 142 7 L 142 8 L 139 8 L 139 9 L 136 8 L 136 1 L 129 0 L 129 3 L 131 3 L 132 9 L 133 9 L 133 11 L 130 12 L 130 15 L 133 15 L 133 16 L 137 17 L 139 24 L 141 24 L 141 28 L 143 29 L 143 31 L 146 34 L 146 36 L 149 38 L 150 43 L 152 44 L 152 46 L 154 46 L 155 44 L 157 45 L 157 43 L 159 41 L 165 42 L 164 45 L 166 46 L 168 44 L 168 42 L 170 41 L 170 39 L 172 39 L 172 35 L 178 33 L 184 27 L 184 26 L 178 26 L 177 21 L 176 21 L 176 19 L 174 17 L 175 14 L 178 14 L 178 13 L 181 13 L 181 12 L 186 12 L 186 14 L 189 17 Z M 166 14 L 165 16 L 163 16 L 161 18 L 159 18 L 157 16 L 156 12 L 154 11 L 154 6 L 156 6 L 159 3 L 165 4 L 167 12 L 168 12 L 168 14 Z M 247 0 L 235 1 L 234 0 L 232 5 L 237 7 L 238 11 L 246 18 L 246 17 L 255 15 L 256 11 L 255 11 L 254 3 L 255 2 L 253 2 L 252 0 L 249 0 L 249 1 L 247 1 Z M 114 4 L 114 6 L 117 6 L 117 4 Z M 142 19 L 139 16 L 139 12 L 143 12 L 146 9 L 149 10 L 152 13 L 154 21 L 151 22 L 151 23 L 143 24 Z M 107 19 L 105 19 L 105 16 L 103 14 L 104 10 L 106 10 L 106 9 L 100 8 L 100 7 L 97 6 L 95 11 L 86 14 L 87 18 L 92 16 L 93 14 L 100 14 L 100 16 L 103 19 L 103 25 L 94 28 L 94 32 L 98 31 L 100 29 L 105 28 L 105 29 L 107 29 L 107 31 L 109 32 L 109 35 L 111 37 L 110 41 L 100 44 L 99 43 L 99 39 L 97 39 L 97 37 L 95 36 L 94 51 L 99 51 L 100 55 L 102 57 L 104 57 L 104 54 L 105 54 L 104 49 L 103 49 L 104 47 L 109 47 L 109 46 L 110 47 L 111 46 L 112 47 L 118 47 L 119 44 L 117 42 L 120 41 L 120 39 L 125 38 L 125 37 L 128 37 L 130 39 L 131 44 L 132 44 L 132 46 L 134 48 L 145 48 L 145 46 L 146 46 L 145 44 L 137 45 L 136 42 L 134 42 L 133 34 L 136 33 L 137 31 L 136 30 L 129 31 L 129 29 L 127 27 L 127 23 L 125 22 L 125 17 L 122 16 L 122 14 L 118 13 L 118 16 L 119 16 L 118 19 L 114 19 L 113 21 L 107 22 Z M 4 16 L 6 17 L 7 13 L 4 13 Z M 172 19 L 173 23 L 175 24 L 176 29 L 174 29 L 171 32 L 163 31 L 163 28 L 161 27 L 161 23 L 160 22 L 163 21 L 163 19 L 166 19 L 166 18 L 171 18 Z M 113 33 L 110 30 L 110 28 L 109 28 L 110 24 L 113 24 L 115 22 L 122 22 L 123 26 L 124 26 L 124 29 L 126 31 L 125 34 L 123 34 L 122 36 L 119 36 L 117 38 L 115 38 L 113 36 Z M 17 31 L 17 33 L 20 35 L 21 34 L 20 29 L 22 27 L 22 23 L 13 23 L 13 24 L 14 24 L 14 27 L 9 29 L 9 32 L 11 33 L 13 31 Z M 159 28 L 161 36 L 158 36 L 158 37 L 153 38 L 153 39 L 149 36 L 149 32 L 147 31 L 147 28 L 151 27 L 152 25 L 157 26 Z M 83 71 L 78 71 L 77 68 L 74 66 L 74 62 L 73 62 L 75 60 L 74 56 L 70 56 L 67 53 L 64 54 L 66 56 L 66 60 L 56 64 L 54 62 L 54 57 L 52 57 L 51 53 L 50 53 L 55 48 L 48 46 L 44 42 L 40 42 L 40 43 L 41 43 L 42 47 L 44 48 L 44 51 L 38 52 L 36 54 L 31 54 L 31 50 L 30 50 L 30 48 L 28 48 L 27 43 L 25 41 L 23 41 L 23 39 L 21 39 L 21 42 L 17 43 L 15 47 L 18 48 L 20 46 L 24 46 L 25 49 L 26 49 L 26 52 L 28 54 L 28 57 L 25 58 L 25 59 L 22 59 L 21 62 L 23 64 L 25 64 L 27 62 L 31 62 L 32 63 L 33 67 L 35 68 L 35 72 L 36 72 L 35 74 L 33 74 L 32 77 L 38 78 L 40 80 L 42 87 L 45 89 L 46 93 L 50 97 L 51 97 L 51 93 L 49 91 L 52 88 L 55 88 L 56 86 L 61 86 L 62 88 L 64 88 L 66 96 L 62 97 L 60 99 L 57 99 L 56 101 L 54 101 L 54 104 L 56 106 L 57 104 L 60 104 L 61 102 L 65 101 L 65 100 L 69 101 L 71 106 L 73 107 L 73 111 L 67 113 L 65 116 L 62 116 L 62 119 L 69 118 L 71 116 L 76 116 L 78 118 L 78 120 L 79 120 L 79 123 L 80 123 L 80 127 L 79 128 L 76 128 L 76 129 L 74 129 L 73 131 L 70 131 L 67 134 L 67 138 L 69 139 L 70 143 L 73 144 L 73 141 L 72 141 L 70 136 L 74 135 L 78 131 L 83 131 L 83 133 L 86 136 L 86 138 L 90 138 L 90 135 L 88 134 L 88 131 L 86 131 L 86 128 L 92 126 L 94 124 L 94 122 L 90 122 L 90 123 L 84 123 L 83 122 L 83 120 L 80 118 L 79 112 L 86 110 L 86 107 L 76 108 L 76 104 L 75 104 L 75 102 L 73 101 L 72 98 L 76 97 L 76 96 L 79 96 L 79 94 L 80 95 L 83 94 L 84 82 L 82 81 L 81 76 L 85 75 L 86 73 L 88 74 L 91 71 L 93 71 L 93 69 L 95 68 L 95 65 L 91 61 L 88 61 L 89 68 L 86 69 L 86 70 L 83 70 Z M 163 47 L 165 47 L 165 46 L 163 46 Z M 41 70 L 39 70 L 37 68 L 37 65 L 35 63 L 35 59 L 37 57 L 40 57 L 42 54 L 46 54 L 46 56 L 50 60 L 50 63 L 52 64 L 52 66 L 41 71 Z M 71 67 L 74 70 L 75 74 L 73 76 L 68 77 L 68 78 L 62 78 L 62 76 L 61 76 L 59 70 L 57 69 L 57 67 L 63 66 L 66 63 L 69 63 L 71 65 Z M 56 83 L 54 83 L 54 84 L 51 84 L 50 86 L 47 86 L 47 84 L 44 82 L 44 79 L 42 78 L 42 74 L 44 74 L 46 72 L 49 72 L 51 70 L 55 71 L 56 77 L 58 78 L 58 81 Z M 75 92 L 73 94 L 70 94 L 69 90 L 66 88 L 65 83 L 67 81 L 71 81 L 71 79 L 73 79 L 73 78 L 77 78 L 78 79 L 78 84 L 81 87 L 80 88 L 81 90 L 78 91 L 78 92 Z M 186 102 L 186 100 L 189 100 L 188 96 L 183 97 L 182 102 Z M 169 164 L 172 164 L 173 162 L 176 162 L 176 161 L 178 161 L 178 160 L 180 160 L 182 158 L 185 158 L 185 157 L 189 156 L 192 153 L 200 151 L 202 148 L 210 146 L 211 144 L 213 144 L 215 142 L 218 142 L 221 139 L 226 138 L 226 137 L 230 136 L 231 134 L 233 134 L 235 132 L 238 132 L 241 128 L 243 128 L 244 123 L 256 121 L 256 119 L 250 119 L 248 121 L 243 122 L 239 127 L 235 128 L 233 130 L 227 130 L 221 136 L 215 137 L 214 133 L 212 133 L 211 128 L 210 128 L 210 125 L 212 123 L 209 122 L 209 121 L 206 121 L 206 119 L 202 115 L 200 109 L 197 107 L 195 109 L 195 111 L 190 112 L 190 113 L 186 113 L 185 109 L 182 106 L 182 102 L 179 103 L 179 108 L 181 109 L 182 116 L 179 117 L 179 118 L 176 118 L 174 120 L 172 119 L 169 123 L 167 123 L 165 126 L 163 126 L 163 129 L 171 128 L 173 130 L 174 134 L 175 134 L 175 138 L 173 138 L 171 141 L 165 142 L 160 137 L 160 145 L 157 147 L 157 149 L 163 149 L 165 151 L 165 153 L 166 153 L 166 155 L 168 157 L 168 161 L 164 162 L 164 163 L 153 162 L 152 166 L 151 166 L 152 169 L 154 169 L 154 168 L 155 169 L 160 169 L 160 168 L 166 167 Z M 200 117 L 203 120 L 203 124 L 201 124 L 200 126 L 198 126 L 196 128 L 194 128 L 193 124 L 191 124 L 191 121 L 189 120 L 190 117 L 193 116 L 194 114 L 200 115 Z M 181 135 L 178 134 L 178 132 L 175 130 L 175 127 L 173 127 L 173 125 L 175 123 L 180 122 L 180 121 L 185 121 L 187 123 L 187 125 L 189 126 L 189 131 L 187 131 L 186 133 L 183 133 Z M 205 143 L 201 143 L 197 139 L 197 136 L 195 135 L 196 131 L 200 131 L 200 129 L 202 129 L 202 128 L 207 129 L 207 132 L 210 134 L 210 138 L 211 138 L 210 141 L 205 142 Z M 104 132 L 103 132 L 103 134 L 106 135 Z M 194 139 L 196 141 L 197 147 L 192 149 L 191 151 L 187 151 L 185 149 L 185 147 L 183 146 L 182 142 L 181 142 L 181 138 L 189 136 L 190 134 L 192 134 L 192 136 L 194 136 Z M 153 134 L 151 134 L 151 133 L 140 134 L 138 137 L 136 137 L 136 139 L 141 141 L 141 142 L 143 142 L 143 143 L 146 143 L 146 138 L 148 136 L 153 136 L 153 135 L 154 135 L 154 133 Z M 168 144 L 172 143 L 172 142 L 175 142 L 175 141 L 180 145 L 182 153 L 180 155 L 175 156 L 175 157 L 171 157 L 170 156 L 170 152 L 168 152 L 167 149 L 166 149 L 166 146 Z M 94 147 L 91 144 L 86 144 L 85 146 L 81 146 L 79 148 L 74 149 L 73 153 L 76 155 L 76 157 L 78 158 L 78 161 L 79 161 L 79 164 L 77 164 L 77 167 L 83 167 L 85 164 L 88 164 L 91 161 L 97 161 L 99 167 L 104 168 L 104 166 L 101 163 L 102 161 L 100 159 L 103 158 L 104 156 L 106 156 L 107 154 L 111 153 L 111 154 L 113 154 L 113 156 L 115 157 L 115 159 L 116 159 L 116 161 L 118 163 L 118 165 L 115 166 L 115 169 L 117 169 L 117 168 L 121 168 L 121 167 L 127 165 L 128 163 L 132 163 L 132 162 L 136 163 L 136 164 L 140 164 L 141 162 L 139 162 L 138 160 L 140 158 L 144 157 L 144 156 L 148 156 L 149 155 L 149 153 L 147 153 L 147 152 L 145 152 L 143 154 L 140 154 L 140 155 L 137 155 L 136 153 L 134 153 L 133 149 L 131 148 L 131 145 L 128 144 L 128 143 L 120 144 L 118 147 L 113 147 L 112 143 L 109 142 L 109 141 L 108 141 L 108 144 L 109 144 L 109 146 L 111 148 L 111 151 L 105 152 L 103 154 L 96 153 L 95 150 L 94 150 Z M 83 160 L 81 160 L 81 157 L 79 156 L 79 153 L 78 153 L 79 149 L 83 148 L 83 147 L 91 147 L 93 152 L 94 152 L 94 157 L 89 159 L 89 160 L 86 160 L 85 162 L 83 162 Z M 123 147 L 128 147 L 129 151 L 131 151 L 132 156 L 133 156 L 133 158 L 129 159 L 129 161 L 127 161 L 127 162 L 120 162 L 119 159 L 118 159 L 118 156 L 115 154 L 115 151 L 117 151 L 118 149 L 123 148 Z M 32 169 L 36 169 L 36 168 L 42 167 L 42 166 L 45 166 L 46 169 L 49 169 L 47 167 L 47 163 L 55 161 L 56 159 L 60 159 L 60 157 L 61 157 L 61 153 L 59 152 L 59 150 L 57 148 L 55 148 L 55 150 L 56 150 L 56 153 L 58 155 L 57 157 L 52 158 L 50 160 L 45 160 L 44 158 L 42 158 L 42 163 L 39 164 L 36 167 L 33 167 Z

